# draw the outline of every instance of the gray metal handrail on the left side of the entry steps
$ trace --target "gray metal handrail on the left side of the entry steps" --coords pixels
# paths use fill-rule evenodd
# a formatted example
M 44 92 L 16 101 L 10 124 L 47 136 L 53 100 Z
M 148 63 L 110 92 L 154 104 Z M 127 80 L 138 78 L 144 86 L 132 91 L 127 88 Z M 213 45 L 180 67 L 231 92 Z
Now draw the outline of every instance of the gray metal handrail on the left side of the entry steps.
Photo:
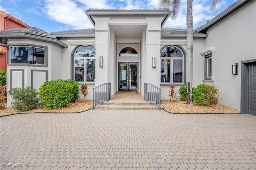
M 92 89 L 92 109 L 97 104 L 110 100 L 110 83 L 104 83 Z

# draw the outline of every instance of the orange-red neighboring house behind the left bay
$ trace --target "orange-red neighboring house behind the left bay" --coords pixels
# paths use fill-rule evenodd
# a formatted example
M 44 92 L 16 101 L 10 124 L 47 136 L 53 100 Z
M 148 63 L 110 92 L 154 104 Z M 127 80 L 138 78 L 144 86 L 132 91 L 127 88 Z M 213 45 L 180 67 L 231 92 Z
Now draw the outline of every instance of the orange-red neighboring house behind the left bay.
M 17 18 L 14 18 L 9 14 L 6 14 L 5 12 L 0 11 L 0 30 L 22 28 L 22 27 L 30 27 L 30 26 L 18 20 Z M 6 47 L 0 46 L 0 69 L 1 70 L 6 70 L 7 68 L 6 54 L 7 54 Z

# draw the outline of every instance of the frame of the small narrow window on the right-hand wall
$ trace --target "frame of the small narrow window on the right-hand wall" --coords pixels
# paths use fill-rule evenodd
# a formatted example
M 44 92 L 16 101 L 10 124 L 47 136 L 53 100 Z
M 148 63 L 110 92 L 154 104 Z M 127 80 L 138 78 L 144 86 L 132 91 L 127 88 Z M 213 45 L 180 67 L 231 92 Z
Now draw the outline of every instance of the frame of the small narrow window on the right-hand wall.
M 200 55 L 202 55 L 202 81 L 214 81 L 214 54 L 215 47 L 210 47 L 200 52 Z M 211 59 L 211 76 L 208 75 L 209 59 Z

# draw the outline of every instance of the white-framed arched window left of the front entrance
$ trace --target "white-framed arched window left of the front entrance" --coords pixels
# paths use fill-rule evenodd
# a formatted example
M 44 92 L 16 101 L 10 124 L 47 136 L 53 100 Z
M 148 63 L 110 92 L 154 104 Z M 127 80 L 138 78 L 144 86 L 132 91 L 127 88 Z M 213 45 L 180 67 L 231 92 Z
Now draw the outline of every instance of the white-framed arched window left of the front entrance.
M 95 51 L 81 46 L 74 53 L 74 79 L 78 82 L 95 82 Z

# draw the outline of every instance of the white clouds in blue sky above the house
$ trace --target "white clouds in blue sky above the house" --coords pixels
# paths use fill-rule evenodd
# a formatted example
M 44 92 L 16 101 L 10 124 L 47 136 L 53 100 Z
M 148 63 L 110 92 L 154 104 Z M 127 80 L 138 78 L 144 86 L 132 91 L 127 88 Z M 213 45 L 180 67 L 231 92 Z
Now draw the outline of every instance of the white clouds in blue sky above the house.
M 193 1 L 194 29 L 214 17 L 209 12 L 209 0 Z M 220 6 L 226 2 L 221 2 Z M 158 0 L 46 0 L 38 1 L 37 7 L 28 11 L 38 16 L 46 15 L 50 20 L 62 23 L 59 29 L 84 29 L 93 25 L 85 14 L 88 8 L 108 9 L 152 9 L 160 8 Z M 2 7 L 1 7 L 2 8 Z M 42 13 L 40 13 L 42 11 Z M 168 19 L 164 27 L 186 29 L 186 0 L 182 0 L 176 20 Z

